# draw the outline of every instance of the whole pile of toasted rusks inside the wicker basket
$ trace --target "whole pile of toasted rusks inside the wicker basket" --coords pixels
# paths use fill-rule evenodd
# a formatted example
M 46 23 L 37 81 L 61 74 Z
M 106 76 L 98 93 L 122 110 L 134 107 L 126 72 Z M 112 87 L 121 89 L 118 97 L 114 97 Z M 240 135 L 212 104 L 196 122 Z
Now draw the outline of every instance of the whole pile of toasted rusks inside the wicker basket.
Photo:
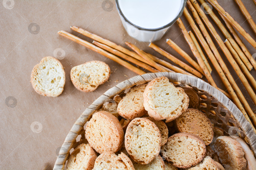
M 193 88 L 176 88 L 167 77 L 134 86 L 93 114 L 88 142 L 66 169 L 247 169 L 242 145 L 213 127 L 198 103 Z

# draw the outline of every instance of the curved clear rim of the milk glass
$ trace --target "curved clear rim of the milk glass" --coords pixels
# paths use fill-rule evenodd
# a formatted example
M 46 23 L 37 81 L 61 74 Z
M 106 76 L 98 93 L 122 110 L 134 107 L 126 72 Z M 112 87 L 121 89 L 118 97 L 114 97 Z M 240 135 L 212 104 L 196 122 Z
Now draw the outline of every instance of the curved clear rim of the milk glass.
M 174 18 L 174 20 L 172 20 L 170 23 L 168 23 L 168 24 L 166 24 L 166 25 L 164 25 L 164 26 L 161 26 L 161 27 L 159 27 L 159 28 L 143 28 L 143 27 L 140 27 L 140 26 L 137 26 L 137 25 L 131 23 L 131 21 L 129 21 L 129 20 L 125 17 L 125 15 L 123 14 L 123 12 L 121 11 L 120 6 L 119 6 L 119 2 L 118 2 L 119 0 L 115 0 L 115 1 L 116 1 L 117 11 L 118 11 L 119 14 L 123 17 L 123 19 L 125 20 L 125 22 L 128 22 L 130 25 L 133 25 L 133 26 L 137 27 L 138 30 L 143 30 L 143 31 L 159 31 L 159 30 L 162 30 L 162 29 L 164 29 L 164 28 L 167 28 L 167 27 L 173 25 L 174 22 L 175 22 L 176 20 L 178 20 L 178 18 L 179 18 L 179 17 L 181 16 L 181 14 L 183 13 L 183 10 L 184 10 L 185 5 L 186 5 L 186 0 L 182 0 L 183 3 L 181 4 L 182 7 L 181 7 L 180 12 L 179 12 L 178 15 Z

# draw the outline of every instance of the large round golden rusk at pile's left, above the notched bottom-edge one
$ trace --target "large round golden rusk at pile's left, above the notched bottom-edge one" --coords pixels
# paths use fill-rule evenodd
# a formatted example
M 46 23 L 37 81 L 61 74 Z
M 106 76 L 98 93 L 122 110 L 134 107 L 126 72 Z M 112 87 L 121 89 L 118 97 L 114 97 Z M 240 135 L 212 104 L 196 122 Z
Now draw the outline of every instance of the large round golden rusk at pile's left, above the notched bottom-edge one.
M 124 131 L 118 119 L 106 111 L 96 112 L 85 128 L 90 146 L 98 153 L 117 152 L 124 142 Z

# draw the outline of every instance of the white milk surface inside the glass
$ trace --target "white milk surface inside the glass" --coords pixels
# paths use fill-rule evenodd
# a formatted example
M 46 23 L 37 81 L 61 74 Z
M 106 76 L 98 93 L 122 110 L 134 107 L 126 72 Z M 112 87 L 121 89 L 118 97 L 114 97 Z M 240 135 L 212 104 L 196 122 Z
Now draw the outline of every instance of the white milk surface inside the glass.
M 125 18 L 132 24 L 146 28 L 160 28 L 179 14 L 182 0 L 118 0 Z

